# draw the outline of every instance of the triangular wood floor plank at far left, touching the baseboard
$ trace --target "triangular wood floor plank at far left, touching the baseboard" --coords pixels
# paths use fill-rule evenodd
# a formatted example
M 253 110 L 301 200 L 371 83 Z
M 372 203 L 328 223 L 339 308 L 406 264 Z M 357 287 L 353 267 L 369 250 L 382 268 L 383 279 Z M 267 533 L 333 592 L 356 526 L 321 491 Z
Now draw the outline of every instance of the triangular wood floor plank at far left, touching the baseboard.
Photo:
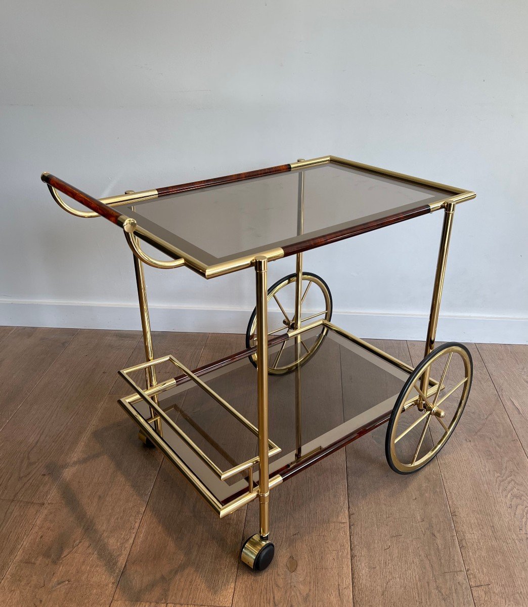
M 5 336 L 0 348 L 0 428 L 76 333 L 78 329 L 16 327 Z

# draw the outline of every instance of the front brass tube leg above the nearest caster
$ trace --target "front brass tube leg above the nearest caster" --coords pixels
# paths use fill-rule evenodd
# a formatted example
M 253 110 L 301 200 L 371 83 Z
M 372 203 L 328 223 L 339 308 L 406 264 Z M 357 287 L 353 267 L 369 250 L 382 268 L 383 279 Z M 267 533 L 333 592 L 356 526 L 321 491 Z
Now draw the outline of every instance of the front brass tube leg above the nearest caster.
M 255 259 L 257 279 L 257 392 L 259 413 L 259 521 L 260 537 L 269 535 L 268 465 L 268 260 Z

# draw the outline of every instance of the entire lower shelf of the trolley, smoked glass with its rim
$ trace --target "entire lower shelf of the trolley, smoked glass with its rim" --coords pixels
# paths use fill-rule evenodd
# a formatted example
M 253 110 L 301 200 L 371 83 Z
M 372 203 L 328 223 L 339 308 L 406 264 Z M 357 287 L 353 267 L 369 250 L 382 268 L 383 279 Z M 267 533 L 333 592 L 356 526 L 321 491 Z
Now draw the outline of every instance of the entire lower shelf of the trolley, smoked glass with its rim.
M 322 330 L 325 337 L 306 364 L 286 375 L 269 376 L 270 478 L 280 475 L 286 480 L 387 421 L 410 375 L 411 369 L 404 363 L 333 325 L 303 333 L 302 339 L 308 348 Z M 276 358 L 280 348 L 282 362 L 287 361 L 288 356 L 294 359 L 294 338 L 288 339 L 284 346 L 282 341 L 270 346 L 270 361 Z M 166 362 L 169 358 L 172 359 L 164 357 L 159 361 Z M 157 361 L 152 363 L 155 364 Z M 131 370 L 138 372 L 138 367 Z M 213 466 L 206 463 L 203 456 L 198 456 L 194 447 L 159 415 L 158 431 L 155 429 L 153 418 L 156 416 L 152 415 L 147 399 L 141 398 L 141 390 L 139 396 L 128 396 L 121 399 L 120 404 L 136 422 L 140 421 L 141 430 L 158 447 L 166 454 L 175 454 L 171 460 L 180 469 L 181 463 L 184 464 L 186 470 L 182 471 L 188 478 L 191 471 L 218 503 L 228 504 L 248 490 L 251 492 L 258 483 L 258 439 L 251 430 L 251 426 L 257 426 L 257 370 L 247 354 L 242 358 L 231 357 L 209 368 L 211 370 L 195 373 L 248 424 L 241 423 L 188 375 L 172 380 L 172 387 L 170 382 L 169 387 L 167 382 L 161 383 L 148 394 L 157 399 L 158 407 L 205 458 L 214 462 Z M 127 371 L 131 370 L 124 370 L 121 375 L 127 378 Z M 139 418 L 147 423 L 141 423 Z M 280 447 L 280 452 L 276 446 Z M 254 462 L 252 481 L 246 469 L 229 478 L 220 478 L 220 471 L 235 469 L 248 461 Z

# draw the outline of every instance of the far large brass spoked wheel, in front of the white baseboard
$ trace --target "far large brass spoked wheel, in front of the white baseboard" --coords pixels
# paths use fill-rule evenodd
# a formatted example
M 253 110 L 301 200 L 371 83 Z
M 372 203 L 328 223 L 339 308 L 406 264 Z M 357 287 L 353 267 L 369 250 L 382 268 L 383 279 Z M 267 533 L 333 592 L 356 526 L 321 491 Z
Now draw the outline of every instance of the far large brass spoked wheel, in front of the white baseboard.
M 278 328 L 272 328 L 269 331 L 269 337 L 280 335 L 281 332 L 288 333 L 293 330 L 296 325 L 294 314 L 295 291 L 296 291 L 297 275 L 289 274 L 284 278 L 277 280 L 268 289 L 268 314 L 273 311 L 279 311 L 282 316 L 282 325 Z M 301 310 L 305 305 L 306 297 L 310 297 L 310 313 L 306 313 L 306 317 L 302 317 L 300 326 L 310 324 L 321 318 L 330 320 L 332 317 L 332 296 L 327 283 L 317 274 L 303 272 L 302 274 L 302 297 Z M 296 359 L 294 352 L 296 348 L 286 348 L 288 341 L 282 343 L 279 349 L 270 354 L 268 361 L 268 372 L 270 375 L 285 375 L 296 368 L 297 364 L 305 364 L 316 353 L 317 349 L 323 342 L 328 329 L 321 327 L 319 333 L 311 334 L 307 339 L 300 339 L 301 356 Z M 251 348 L 257 345 L 257 309 L 255 308 L 249 317 L 248 329 L 246 330 L 246 348 Z M 249 360 L 256 367 L 257 354 L 251 354 Z

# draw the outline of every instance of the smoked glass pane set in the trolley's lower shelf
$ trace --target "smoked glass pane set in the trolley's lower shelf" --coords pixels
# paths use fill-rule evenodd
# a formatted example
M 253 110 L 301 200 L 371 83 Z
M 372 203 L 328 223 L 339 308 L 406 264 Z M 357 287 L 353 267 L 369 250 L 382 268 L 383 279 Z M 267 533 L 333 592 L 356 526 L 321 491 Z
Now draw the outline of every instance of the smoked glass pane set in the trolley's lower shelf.
M 310 347 L 318 335 L 319 329 L 312 330 L 303 334 L 303 341 Z M 270 360 L 279 347 L 270 349 Z M 284 350 L 286 361 L 293 360 L 294 349 L 294 340 L 289 340 Z M 407 377 L 395 365 L 328 331 L 319 350 L 300 371 L 269 376 L 269 438 L 282 449 L 270 460 L 270 474 L 387 415 Z M 257 371 L 248 359 L 202 379 L 257 426 Z M 227 470 L 258 454 L 256 436 L 194 382 L 162 393 L 159 402 L 220 469 Z M 135 407 L 145 418 L 149 416 L 146 405 Z M 163 436 L 220 500 L 247 489 L 243 475 L 227 481 L 214 478 L 166 424 Z

